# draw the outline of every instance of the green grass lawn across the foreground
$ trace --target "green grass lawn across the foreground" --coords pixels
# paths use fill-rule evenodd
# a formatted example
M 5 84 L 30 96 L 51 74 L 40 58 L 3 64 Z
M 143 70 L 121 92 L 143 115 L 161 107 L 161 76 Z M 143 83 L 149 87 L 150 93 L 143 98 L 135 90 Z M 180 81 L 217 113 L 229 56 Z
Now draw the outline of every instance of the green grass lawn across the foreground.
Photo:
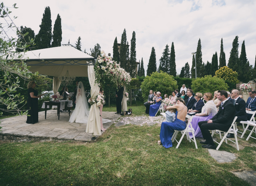
M 144 114 L 145 108 L 132 110 Z M 0 185 L 249 186 L 231 171 L 256 171 L 256 140 L 240 140 L 245 146 L 240 151 L 223 143 L 219 150 L 234 153 L 237 159 L 217 163 L 199 141 L 198 149 L 186 138 L 178 149 L 177 143 L 165 149 L 157 144 L 159 132 L 159 125 L 113 124 L 92 143 L 0 143 Z

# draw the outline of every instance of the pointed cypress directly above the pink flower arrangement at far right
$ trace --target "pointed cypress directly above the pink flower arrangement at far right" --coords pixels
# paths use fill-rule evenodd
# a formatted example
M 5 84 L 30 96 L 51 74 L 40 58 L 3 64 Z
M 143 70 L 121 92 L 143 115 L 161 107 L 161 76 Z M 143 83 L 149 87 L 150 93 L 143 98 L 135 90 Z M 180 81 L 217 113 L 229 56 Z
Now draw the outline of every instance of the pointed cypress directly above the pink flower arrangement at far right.
M 246 57 L 245 42 L 241 46 L 241 54 L 239 58 L 240 73 L 238 73 L 238 79 L 242 82 L 250 81 L 250 64 Z

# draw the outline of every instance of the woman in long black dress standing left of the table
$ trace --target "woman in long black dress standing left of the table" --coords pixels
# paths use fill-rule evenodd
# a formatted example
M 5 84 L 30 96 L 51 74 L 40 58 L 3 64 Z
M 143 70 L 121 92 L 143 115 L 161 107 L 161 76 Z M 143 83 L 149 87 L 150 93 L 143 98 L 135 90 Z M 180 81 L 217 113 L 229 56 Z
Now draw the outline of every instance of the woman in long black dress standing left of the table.
M 28 82 L 28 115 L 27 122 L 29 124 L 34 124 L 38 122 L 38 91 L 35 88 L 35 81 Z

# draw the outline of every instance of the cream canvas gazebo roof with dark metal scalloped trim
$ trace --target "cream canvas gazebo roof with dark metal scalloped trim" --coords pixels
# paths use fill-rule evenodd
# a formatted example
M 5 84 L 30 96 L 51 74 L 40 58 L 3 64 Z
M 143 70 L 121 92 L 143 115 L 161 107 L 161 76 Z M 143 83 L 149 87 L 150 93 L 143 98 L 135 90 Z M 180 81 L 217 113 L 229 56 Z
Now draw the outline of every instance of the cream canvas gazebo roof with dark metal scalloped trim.
M 70 76 L 87 77 L 87 66 L 94 65 L 94 57 L 71 45 L 28 51 L 24 57 L 29 58 L 25 63 L 31 72 L 57 77 L 67 70 Z

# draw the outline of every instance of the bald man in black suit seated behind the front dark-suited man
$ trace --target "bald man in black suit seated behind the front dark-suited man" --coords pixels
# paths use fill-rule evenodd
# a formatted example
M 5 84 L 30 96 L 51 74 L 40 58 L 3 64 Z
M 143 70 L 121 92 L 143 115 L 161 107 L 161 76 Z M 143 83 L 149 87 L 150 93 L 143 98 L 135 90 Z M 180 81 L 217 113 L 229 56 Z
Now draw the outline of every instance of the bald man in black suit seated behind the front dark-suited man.
M 239 97 L 239 91 L 237 89 L 233 90 L 231 94 L 234 98 L 231 100 L 231 103 L 235 106 L 235 116 L 237 116 L 237 120 L 235 120 L 235 122 L 247 121 L 245 101 Z M 227 138 L 231 137 L 234 137 L 234 134 L 227 135 Z

